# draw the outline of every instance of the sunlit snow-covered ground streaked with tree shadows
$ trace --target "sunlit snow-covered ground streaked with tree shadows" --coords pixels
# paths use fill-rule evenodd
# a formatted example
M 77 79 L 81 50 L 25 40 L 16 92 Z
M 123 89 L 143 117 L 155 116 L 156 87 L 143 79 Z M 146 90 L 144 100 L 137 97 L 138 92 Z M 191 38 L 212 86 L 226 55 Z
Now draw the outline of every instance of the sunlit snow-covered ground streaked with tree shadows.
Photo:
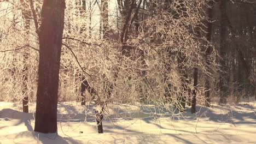
M 35 104 L 29 106 L 30 113 L 22 113 L 20 104 L 0 102 L 0 143 L 256 143 L 256 101 L 198 106 L 196 114 L 187 109 L 182 115 L 112 105 L 103 134 L 97 133 L 92 108 L 59 103 L 59 135 L 34 132 Z

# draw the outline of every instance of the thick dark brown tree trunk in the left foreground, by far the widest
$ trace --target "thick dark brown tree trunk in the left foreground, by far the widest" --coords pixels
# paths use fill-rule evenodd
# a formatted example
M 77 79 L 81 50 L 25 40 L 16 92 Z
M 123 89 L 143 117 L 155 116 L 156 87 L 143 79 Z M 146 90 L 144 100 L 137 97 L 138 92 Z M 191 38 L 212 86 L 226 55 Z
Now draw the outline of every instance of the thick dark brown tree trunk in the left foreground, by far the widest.
M 34 131 L 57 133 L 57 99 L 65 0 L 44 0 L 39 31 L 39 69 Z

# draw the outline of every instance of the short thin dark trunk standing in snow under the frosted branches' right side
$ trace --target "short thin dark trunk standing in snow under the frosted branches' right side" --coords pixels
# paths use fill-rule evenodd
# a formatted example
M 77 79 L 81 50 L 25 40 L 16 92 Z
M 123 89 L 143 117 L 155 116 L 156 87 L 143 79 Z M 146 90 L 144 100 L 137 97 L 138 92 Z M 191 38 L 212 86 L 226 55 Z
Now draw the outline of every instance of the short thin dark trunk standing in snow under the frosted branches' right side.
M 193 97 L 192 97 L 192 106 L 191 113 L 196 113 L 196 91 L 197 91 L 197 78 L 198 77 L 198 69 L 194 68 L 194 89 L 193 89 Z

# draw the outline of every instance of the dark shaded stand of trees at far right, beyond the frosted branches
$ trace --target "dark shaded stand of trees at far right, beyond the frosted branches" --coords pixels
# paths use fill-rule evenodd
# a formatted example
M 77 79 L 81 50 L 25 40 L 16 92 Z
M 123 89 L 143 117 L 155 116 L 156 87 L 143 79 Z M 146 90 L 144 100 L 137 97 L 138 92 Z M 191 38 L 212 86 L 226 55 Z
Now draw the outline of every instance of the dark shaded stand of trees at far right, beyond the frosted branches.
M 252 19 L 255 17 L 255 2 L 221 1 L 214 4 L 213 9 L 213 20 L 216 21 L 212 23 L 212 43 L 217 49 L 219 47 L 221 66 L 220 103 L 226 103 L 229 98 L 238 101 L 241 95 L 253 97 L 255 69 L 252 64 L 255 58 L 249 53 L 255 53 L 255 40 L 252 39 L 255 37 L 255 20 Z

